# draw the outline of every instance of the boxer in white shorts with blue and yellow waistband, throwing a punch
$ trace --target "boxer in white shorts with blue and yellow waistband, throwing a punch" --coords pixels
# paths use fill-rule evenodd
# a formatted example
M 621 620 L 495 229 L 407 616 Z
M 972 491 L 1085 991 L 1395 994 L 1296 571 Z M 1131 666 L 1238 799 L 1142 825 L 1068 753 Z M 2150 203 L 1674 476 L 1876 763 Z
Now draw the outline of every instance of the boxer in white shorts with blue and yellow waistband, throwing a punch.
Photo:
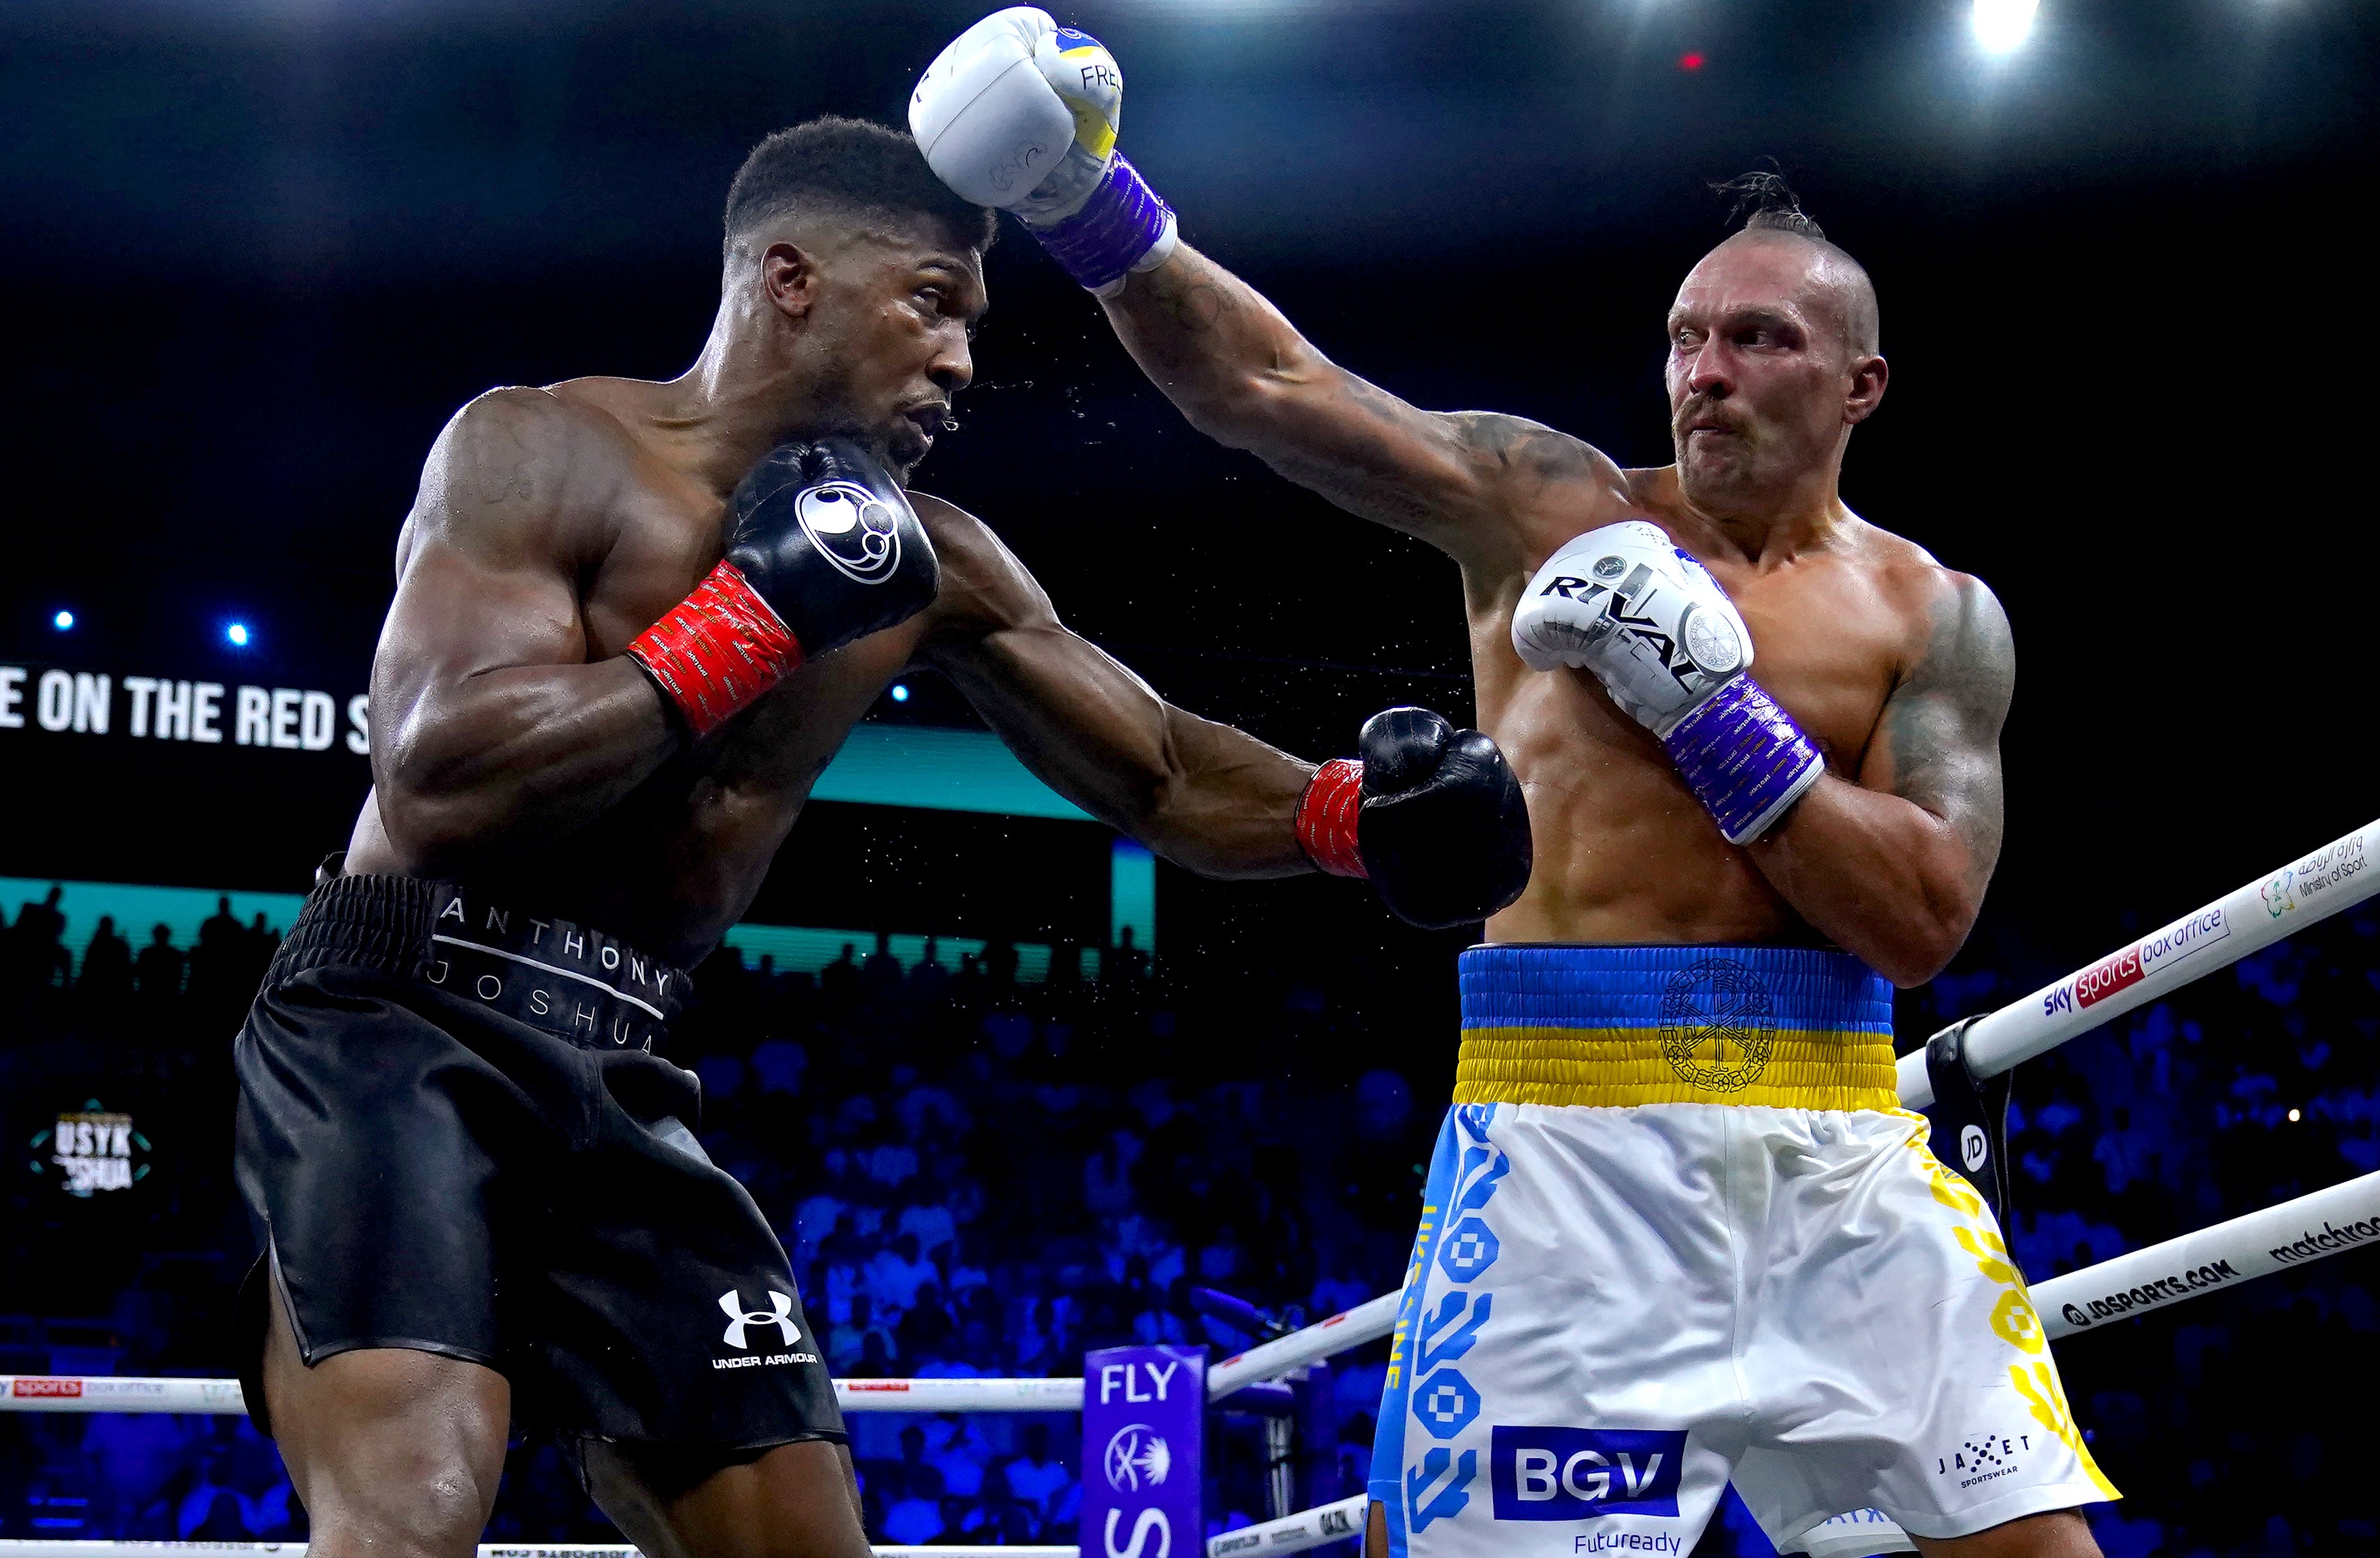
M 2094 1553 L 2073 1508 L 2116 1491 L 2025 1284 L 1894 1098 L 1892 984 L 1999 855 L 2013 653 L 1837 491 L 1887 381 L 1868 274 L 1754 181 L 1668 310 L 1676 462 L 1621 469 L 1335 367 L 1178 241 L 1119 105 L 1107 50 L 1019 7 L 909 119 L 1195 426 L 1461 565 L 1535 827 L 1461 960 L 1373 1553 L 1687 1553 L 1730 1477 L 1787 1551 L 1880 1508 L 1925 1553 Z

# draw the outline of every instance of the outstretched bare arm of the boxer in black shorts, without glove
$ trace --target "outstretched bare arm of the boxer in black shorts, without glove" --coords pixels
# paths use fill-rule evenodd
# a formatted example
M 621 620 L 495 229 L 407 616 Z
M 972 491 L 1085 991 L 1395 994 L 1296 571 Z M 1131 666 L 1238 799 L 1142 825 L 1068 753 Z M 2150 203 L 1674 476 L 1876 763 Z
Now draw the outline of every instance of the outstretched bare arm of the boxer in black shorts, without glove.
M 1314 870 L 1297 798 L 1314 767 L 1183 712 L 1097 646 L 981 522 L 914 496 L 942 560 L 919 660 L 945 672 L 1057 793 L 1204 877 Z

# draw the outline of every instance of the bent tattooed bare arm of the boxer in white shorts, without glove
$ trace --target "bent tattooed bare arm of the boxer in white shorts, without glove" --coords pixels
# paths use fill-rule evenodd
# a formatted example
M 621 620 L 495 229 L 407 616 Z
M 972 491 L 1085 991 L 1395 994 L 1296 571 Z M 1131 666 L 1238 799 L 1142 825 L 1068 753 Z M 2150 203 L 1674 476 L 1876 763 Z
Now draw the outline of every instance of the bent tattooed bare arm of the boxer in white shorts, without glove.
M 1859 784 L 1823 777 L 1749 850 L 1804 920 L 1894 984 L 1940 974 L 1983 908 L 1999 862 L 1999 727 L 2013 686 L 2006 612 L 1980 579 L 1954 574 Z

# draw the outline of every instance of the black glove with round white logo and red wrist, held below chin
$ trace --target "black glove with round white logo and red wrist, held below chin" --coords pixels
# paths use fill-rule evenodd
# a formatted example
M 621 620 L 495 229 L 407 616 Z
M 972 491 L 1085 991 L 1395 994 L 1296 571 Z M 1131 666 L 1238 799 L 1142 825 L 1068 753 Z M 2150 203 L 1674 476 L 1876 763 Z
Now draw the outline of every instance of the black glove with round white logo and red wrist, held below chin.
M 704 736 L 814 655 L 907 622 L 942 569 L 909 496 L 850 438 L 795 438 L 735 486 L 719 567 L 628 655 Z

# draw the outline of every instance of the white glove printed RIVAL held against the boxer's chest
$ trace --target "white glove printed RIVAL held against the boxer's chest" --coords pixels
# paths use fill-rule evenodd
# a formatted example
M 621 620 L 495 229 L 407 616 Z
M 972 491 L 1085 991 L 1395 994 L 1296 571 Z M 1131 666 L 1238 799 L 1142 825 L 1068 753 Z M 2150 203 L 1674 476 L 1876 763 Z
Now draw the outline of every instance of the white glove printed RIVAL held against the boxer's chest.
M 1592 672 L 1661 739 L 1728 843 L 1759 839 L 1825 772 L 1752 679 L 1752 634 L 1728 591 L 1656 524 L 1606 524 L 1547 557 L 1514 607 L 1511 648 L 1537 672 Z

